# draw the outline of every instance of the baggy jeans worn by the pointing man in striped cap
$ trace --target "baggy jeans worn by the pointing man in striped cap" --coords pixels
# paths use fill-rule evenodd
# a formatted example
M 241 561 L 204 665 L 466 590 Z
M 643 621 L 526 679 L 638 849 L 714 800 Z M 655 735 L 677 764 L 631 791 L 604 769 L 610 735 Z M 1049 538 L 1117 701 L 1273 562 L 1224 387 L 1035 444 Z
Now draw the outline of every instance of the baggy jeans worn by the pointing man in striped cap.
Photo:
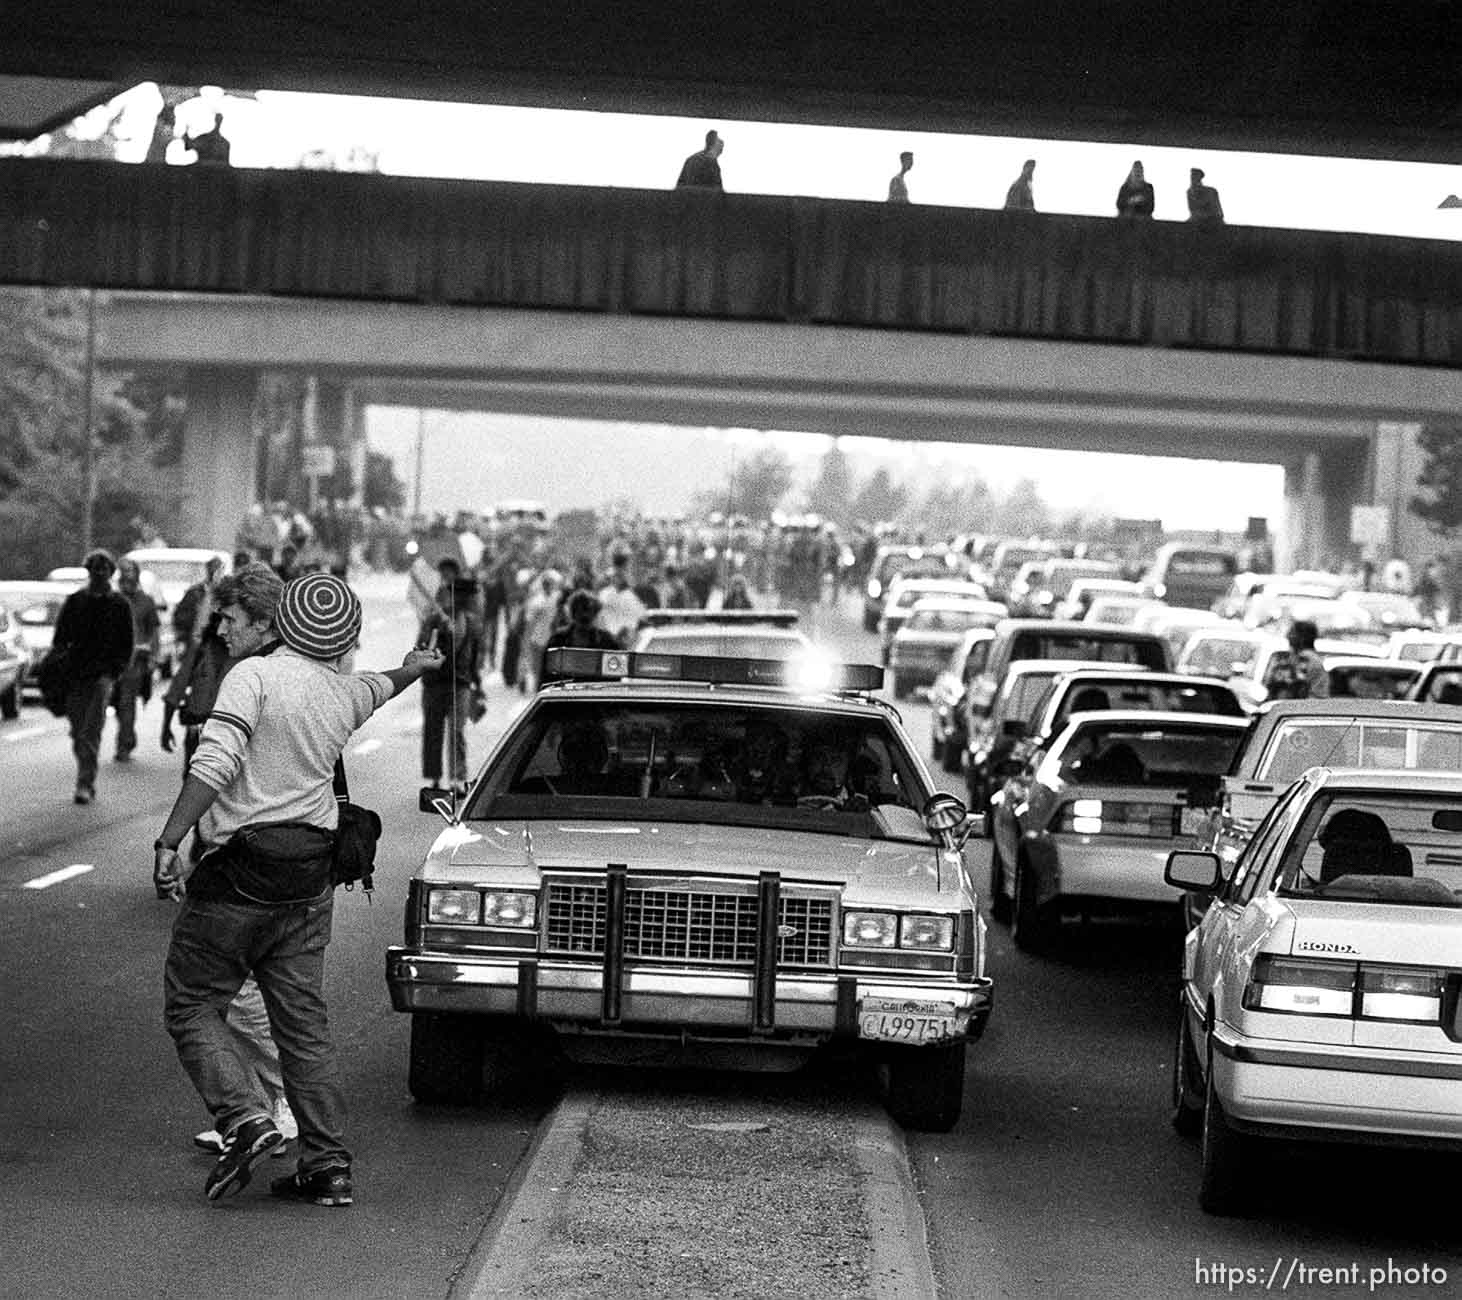
M 164 972 L 164 1021 L 219 1133 L 265 1114 L 257 1075 L 225 1015 L 253 972 L 279 1047 L 284 1091 L 300 1123 L 300 1171 L 351 1164 L 345 1092 L 325 1012 L 325 946 L 333 891 L 263 907 L 184 898 Z

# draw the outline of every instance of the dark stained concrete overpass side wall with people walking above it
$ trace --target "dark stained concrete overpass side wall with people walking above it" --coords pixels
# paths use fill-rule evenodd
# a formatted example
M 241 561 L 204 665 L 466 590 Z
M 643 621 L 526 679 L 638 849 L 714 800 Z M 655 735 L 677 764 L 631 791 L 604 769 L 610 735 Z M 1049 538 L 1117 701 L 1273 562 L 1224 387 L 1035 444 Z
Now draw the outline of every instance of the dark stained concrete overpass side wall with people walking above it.
M 1462 244 L 759 194 L 0 159 L 0 282 L 1462 366 Z

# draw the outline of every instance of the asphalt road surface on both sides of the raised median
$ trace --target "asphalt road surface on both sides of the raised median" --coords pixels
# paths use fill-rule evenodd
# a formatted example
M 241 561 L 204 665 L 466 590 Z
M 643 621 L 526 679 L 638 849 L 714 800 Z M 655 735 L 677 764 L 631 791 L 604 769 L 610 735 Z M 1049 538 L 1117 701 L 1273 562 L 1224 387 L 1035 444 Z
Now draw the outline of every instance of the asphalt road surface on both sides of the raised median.
M 360 664 L 399 662 L 412 636 L 404 581 L 363 588 Z M 849 658 L 876 660 L 851 604 L 814 611 L 813 626 Z M 474 762 L 518 706 L 491 695 Z M 927 706 L 901 711 L 927 753 Z M 149 845 L 180 760 L 156 749 L 158 721 L 154 700 L 137 760 L 104 759 L 85 809 L 70 803 L 64 724 L 35 705 L 0 724 L 0 1296 L 443 1296 L 541 1111 L 420 1110 L 406 1094 L 406 1019 L 389 1008 L 382 953 L 439 825 L 415 812 L 415 698 L 383 709 L 346 756 L 357 800 L 387 815 L 374 905 L 338 898 L 327 970 L 357 1148 L 348 1212 L 273 1203 L 256 1187 L 203 1202 L 209 1161 L 189 1139 L 205 1116 L 161 1025 L 171 910 L 152 895 Z M 962 793 L 959 778 L 940 781 Z M 1272 1290 L 1288 1278 L 1311 1296 L 1447 1291 L 1406 1287 L 1405 1269 L 1424 1265 L 1462 1278 L 1455 1158 L 1276 1149 L 1251 1217 L 1203 1215 L 1196 1145 L 1167 1126 L 1177 936 L 1070 930 L 1058 956 L 1035 959 L 990 924 L 999 993 L 971 1053 L 965 1114 L 949 1135 L 909 1139 L 946 1296 L 1243 1294 L 1266 1290 L 1276 1262 Z M 620 1075 L 617 1087 L 637 1085 Z M 684 1084 L 759 1107 L 779 1095 L 838 1106 L 858 1087 L 817 1075 Z M 1306 1266 L 1351 1265 L 1354 1281 L 1303 1281 Z M 1253 1274 L 1235 1282 L 1224 1269 Z

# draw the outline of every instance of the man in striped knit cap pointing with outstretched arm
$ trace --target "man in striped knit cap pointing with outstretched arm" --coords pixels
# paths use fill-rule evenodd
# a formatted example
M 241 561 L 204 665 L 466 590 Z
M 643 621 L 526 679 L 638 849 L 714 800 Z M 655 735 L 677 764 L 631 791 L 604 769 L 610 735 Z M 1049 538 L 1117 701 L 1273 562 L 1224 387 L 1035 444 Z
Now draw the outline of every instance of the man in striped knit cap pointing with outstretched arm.
M 361 604 L 330 573 L 285 586 L 275 630 L 282 645 L 235 664 L 219 687 L 154 845 L 154 885 L 181 902 L 164 972 L 164 1021 L 224 1135 L 203 1186 L 216 1201 L 246 1186 L 254 1164 L 284 1141 L 224 1019 L 254 975 L 300 1125 L 298 1167 L 275 1179 L 270 1193 L 344 1206 L 354 1199 L 352 1157 L 323 990 L 339 817 L 335 765 L 351 734 L 439 667 L 442 655 L 414 649 L 389 673 L 341 674 L 360 638 Z M 192 873 L 178 855 L 190 832 L 197 842 Z

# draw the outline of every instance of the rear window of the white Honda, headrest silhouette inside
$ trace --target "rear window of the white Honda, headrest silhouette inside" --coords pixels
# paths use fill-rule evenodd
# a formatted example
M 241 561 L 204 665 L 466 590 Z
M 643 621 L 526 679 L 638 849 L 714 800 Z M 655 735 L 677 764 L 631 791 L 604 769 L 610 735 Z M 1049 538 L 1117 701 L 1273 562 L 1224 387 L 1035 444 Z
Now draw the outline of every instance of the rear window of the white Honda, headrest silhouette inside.
M 1462 801 L 1322 796 L 1285 848 L 1279 892 L 1338 902 L 1462 907 Z

